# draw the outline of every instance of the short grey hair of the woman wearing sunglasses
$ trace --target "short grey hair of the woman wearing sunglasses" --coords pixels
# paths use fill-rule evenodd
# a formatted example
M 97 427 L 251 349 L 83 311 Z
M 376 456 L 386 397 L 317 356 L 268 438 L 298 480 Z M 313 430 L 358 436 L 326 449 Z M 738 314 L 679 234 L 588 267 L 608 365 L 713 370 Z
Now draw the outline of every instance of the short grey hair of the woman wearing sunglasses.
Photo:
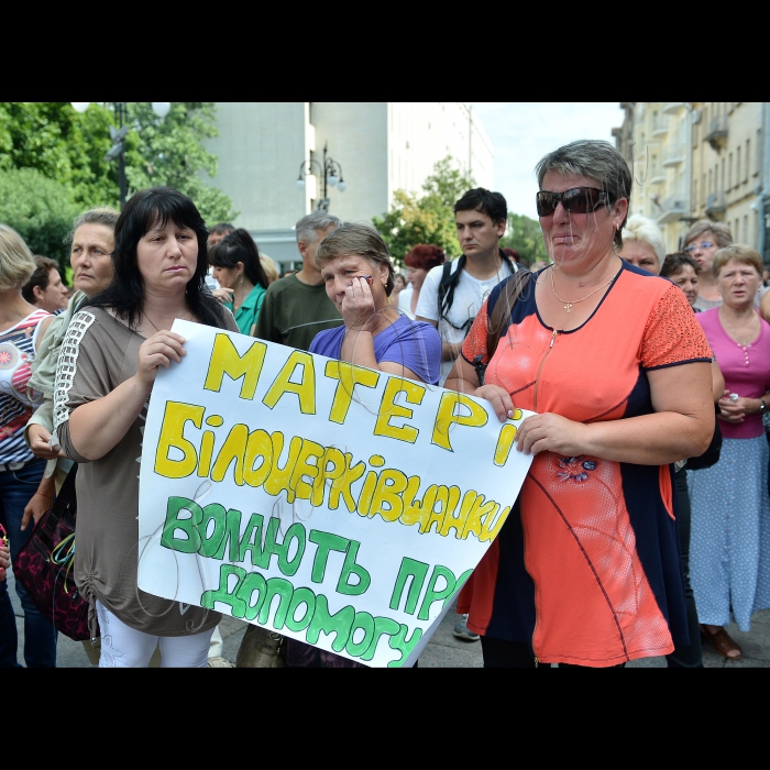
M 585 176 L 588 179 L 595 179 L 600 188 L 608 194 L 612 204 L 619 198 L 626 198 L 630 208 L 634 178 L 626 158 L 609 142 L 582 139 L 548 153 L 535 166 L 540 188 L 542 188 L 542 180 L 548 172 L 559 172 L 562 176 Z M 620 231 L 624 227 L 626 227 L 625 219 L 615 233 L 615 244 L 618 250 L 623 246 Z

